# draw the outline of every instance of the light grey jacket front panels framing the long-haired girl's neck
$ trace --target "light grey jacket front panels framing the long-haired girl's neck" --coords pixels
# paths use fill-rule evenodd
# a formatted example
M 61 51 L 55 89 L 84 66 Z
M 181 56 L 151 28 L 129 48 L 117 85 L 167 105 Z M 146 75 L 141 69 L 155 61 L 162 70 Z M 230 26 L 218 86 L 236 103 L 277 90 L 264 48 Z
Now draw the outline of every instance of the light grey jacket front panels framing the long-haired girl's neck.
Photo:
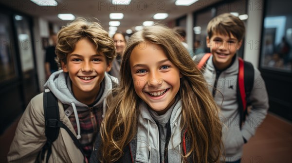
M 171 137 L 168 144 L 168 162 L 169 163 L 180 163 L 181 158 L 181 112 L 182 112 L 182 101 L 176 99 L 175 104 L 172 106 L 173 110 L 170 115 L 170 128 Z M 139 120 L 137 130 L 137 149 L 136 149 L 136 162 L 160 162 L 160 137 L 159 129 L 152 118 L 147 104 L 142 101 L 139 103 Z M 146 159 L 148 158 L 148 159 Z M 148 160 L 148 161 L 146 161 Z

